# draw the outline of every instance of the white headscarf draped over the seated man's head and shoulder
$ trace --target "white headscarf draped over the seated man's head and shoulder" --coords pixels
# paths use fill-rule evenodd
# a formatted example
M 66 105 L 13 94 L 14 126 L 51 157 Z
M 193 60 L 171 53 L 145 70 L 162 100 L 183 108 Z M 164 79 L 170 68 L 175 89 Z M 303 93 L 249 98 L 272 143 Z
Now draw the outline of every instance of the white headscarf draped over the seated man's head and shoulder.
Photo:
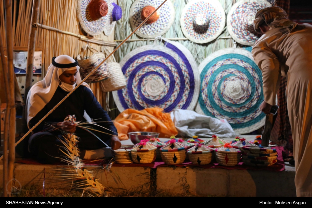
M 71 64 L 75 63 L 75 59 L 71 58 L 67 55 L 57 56 L 55 58 L 55 62 L 58 64 Z M 26 102 L 26 117 L 27 117 L 27 126 L 29 128 L 29 121 L 34 118 L 39 111 L 41 111 L 47 103 L 50 102 L 53 97 L 57 87 L 60 85 L 59 76 L 67 70 L 77 69 L 77 82 L 78 85 L 81 82 L 80 74 L 79 74 L 79 66 L 74 66 L 71 68 L 58 68 L 54 65 L 50 65 L 46 76 L 40 82 L 37 82 L 32 88 L 29 90 L 27 95 Z M 64 84 L 64 83 L 62 83 Z M 90 89 L 90 86 L 83 82 L 83 86 Z M 64 88 L 63 88 L 64 89 Z M 90 89 L 91 90 L 91 89 Z M 67 91 L 67 90 L 66 90 Z

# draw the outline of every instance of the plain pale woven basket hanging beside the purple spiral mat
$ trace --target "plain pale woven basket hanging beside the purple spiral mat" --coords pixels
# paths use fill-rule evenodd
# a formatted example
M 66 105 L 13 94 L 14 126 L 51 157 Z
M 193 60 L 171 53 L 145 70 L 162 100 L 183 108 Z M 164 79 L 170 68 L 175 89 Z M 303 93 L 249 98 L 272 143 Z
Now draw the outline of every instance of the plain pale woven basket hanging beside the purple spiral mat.
M 110 51 L 105 48 L 104 52 L 108 56 Z M 126 80 L 124 74 L 121 71 L 121 66 L 116 62 L 114 56 L 110 56 L 111 61 L 107 63 L 109 78 L 101 82 L 101 88 L 103 92 L 111 92 L 119 89 L 123 89 L 126 86 Z

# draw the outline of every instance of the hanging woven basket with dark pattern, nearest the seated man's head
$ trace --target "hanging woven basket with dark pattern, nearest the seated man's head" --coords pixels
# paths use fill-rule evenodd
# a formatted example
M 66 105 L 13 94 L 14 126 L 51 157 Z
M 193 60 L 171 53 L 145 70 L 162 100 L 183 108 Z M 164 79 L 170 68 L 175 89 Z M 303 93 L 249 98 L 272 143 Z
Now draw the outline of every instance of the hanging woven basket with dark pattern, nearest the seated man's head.
M 90 57 L 84 57 L 85 52 L 87 49 L 90 49 L 90 51 L 94 52 L 92 56 Z M 94 50 L 94 51 L 93 51 Z M 77 61 L 80 66 L 80 74 L 83 77 L 86 77 L 92 70 L 95 69 L 96 66 L 98 66 L 103 60 L 105 59 L 105 55 L 96 49 L 90 47 L 89 45 L 85 45 L 83 49 L 83 54 L 77 56 Z M 88 83 L 94 83 L 106 80 L 108 78 L 108 66 L 106 63 L 103 63 L 100 65 L 100 67 L 91 75 L 88 77 L 86 82 Z

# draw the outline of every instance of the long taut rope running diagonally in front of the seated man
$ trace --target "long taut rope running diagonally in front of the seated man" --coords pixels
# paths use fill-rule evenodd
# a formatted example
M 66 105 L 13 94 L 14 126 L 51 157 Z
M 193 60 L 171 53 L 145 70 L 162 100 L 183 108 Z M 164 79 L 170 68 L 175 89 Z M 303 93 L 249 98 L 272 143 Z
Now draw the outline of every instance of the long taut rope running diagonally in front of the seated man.
M 161 6 L 163 6 L 163 4 L 166 2 L 167 0 L 164 0 L 164 2 L 163 3 L 161 3 L 160 5 L 159 5 L 159 7 L 157 7 L 157 9 L 155 9 L 155 11 L 154 12 L 152 12 L 137 28 L 135 28 L 135 30 L 126 38 L 126 39 L 124 39 L 124 41 L 122 41 L 120 44 L 119 44 L 119 46 L 117 46 L 116 48 L 115 48 L 115 50 L 113 51 L 113 52 L 111 52 L 110 53 L 110 55 L 109 56 L 107 56 L 97 67 L 95 67 L 95 69 L 94 70 L 92 70 L 91 72 L 90 72 L 90 74 L 88 74 L 86 77 L 85 77 L 85 79 L 83 79 L 73 90 L 71 90 L 58 104 L 56 104 L 56 106 L 54 106 L 54 108 L 52 108 L 50 111 L 49 111 L 49 113 L 47 113 L 36 125 L 34 125 L 20 140 L 18 140 L 17 141 L 17 143 L 15 143 L 15 146 L 17 146 L 20 142 L 22 142 L 22 140 L 25 138 L 25 137 L 27 137 L 27 135 L 29 134 L 29 133 L 31 133 L 44 119 L 46 119 L 46 117 L 48 117 L 62 102 L 64 102 L 64 100 L 66 100 L 66 98 L 68 98 L 85 80 L 87 80 L 88 78 L 89 78 L 89 76 L 91 76 L 94 72 L 95 72 L 95 70 L 97 70 L 99 67 L 100 67 L 100 65 L 102 65 L 111 55 L 113 55 L 114 53 L 115 53 L 115 51 L 117 51 L 117 49 L 122 45 L 122 44 L 124 44 L 124 42 L 126 42 L 146 21 L 148 21 L 149 20 L 149 18 L 155 13 L 155 12 L 157 12 L 157 10 L 161 7 Z M 9 152 L 9 151 L 7 151 L 7 152 Z M 2 160 L 2 157 L 3 157 L 3 155 L 0 157 L 0 161 Z

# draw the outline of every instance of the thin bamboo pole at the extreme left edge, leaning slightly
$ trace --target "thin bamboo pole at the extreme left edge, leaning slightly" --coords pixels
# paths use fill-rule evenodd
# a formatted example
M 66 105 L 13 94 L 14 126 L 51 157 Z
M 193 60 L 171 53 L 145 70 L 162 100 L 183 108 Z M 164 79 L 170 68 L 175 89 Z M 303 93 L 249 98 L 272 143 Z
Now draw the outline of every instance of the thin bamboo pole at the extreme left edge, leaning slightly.
M 2 63 L 2 75 L 3 75 L 3 82 L 4 82 L 4 89 L 5 92 L 7 92 L 9 88 L 9 83 L 7 80 L 7 60 L 4 57 L 4 50 L 3 50 L 3 44 L 2 44 L 2 35 L 0 35 L 0 54 L 1 54 L 1 63 Z M 6 102 L 8 100 L 9 94 L 6 93 Z M 4 116 L 4 135 L 3 135 L 3 197 L 7 197 L 7 191 L 6 191 L 6 184 L 8 182 L 7 180 L 7 164 L 8 164 L 8 148 L 7 148 L 7 143 L 8 143 L 8 127 L 9 127 L 9 114 L 10 114 L 10 109 L 7 108 L 5 111 L 5 116 Z

